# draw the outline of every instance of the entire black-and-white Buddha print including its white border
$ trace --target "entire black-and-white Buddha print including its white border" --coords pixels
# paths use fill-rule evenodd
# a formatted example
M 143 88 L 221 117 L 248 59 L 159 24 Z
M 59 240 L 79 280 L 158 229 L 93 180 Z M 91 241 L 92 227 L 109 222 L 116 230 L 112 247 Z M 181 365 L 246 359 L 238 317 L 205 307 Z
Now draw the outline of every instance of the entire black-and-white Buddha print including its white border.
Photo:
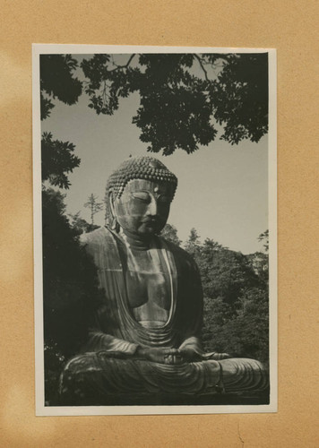
M 276 52 L 33 46 L 37 415 L 277 410 Z

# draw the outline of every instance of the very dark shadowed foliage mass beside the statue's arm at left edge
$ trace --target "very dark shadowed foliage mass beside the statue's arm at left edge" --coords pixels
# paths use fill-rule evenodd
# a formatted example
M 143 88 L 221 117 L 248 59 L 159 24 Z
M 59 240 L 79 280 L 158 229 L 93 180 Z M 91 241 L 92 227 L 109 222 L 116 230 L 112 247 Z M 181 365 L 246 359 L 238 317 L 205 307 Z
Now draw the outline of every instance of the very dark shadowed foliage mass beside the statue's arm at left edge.
M 46 401 L 56 403 L 65 360 L 87 338 L 88 316 L 99 305 L 96 266 L 80 246 L 81 232 L 65 216 L 64 194 L 42 191 L 43 318 Z

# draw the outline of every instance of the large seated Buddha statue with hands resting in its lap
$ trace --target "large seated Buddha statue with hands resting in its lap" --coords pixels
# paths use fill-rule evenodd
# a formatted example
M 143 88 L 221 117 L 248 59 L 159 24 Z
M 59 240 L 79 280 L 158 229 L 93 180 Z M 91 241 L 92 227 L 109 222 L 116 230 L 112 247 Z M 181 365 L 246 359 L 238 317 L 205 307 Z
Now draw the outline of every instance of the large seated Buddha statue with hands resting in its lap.
M 198 268 L 185 250 L 160 237 L 176 188 L 177 177 L 151 157 L 127 159 L 109 177 L 108 225 L 82 235 L 104 303 L 61 375 L 63 404 L 267 388 L 260 362 L 202 349 Z

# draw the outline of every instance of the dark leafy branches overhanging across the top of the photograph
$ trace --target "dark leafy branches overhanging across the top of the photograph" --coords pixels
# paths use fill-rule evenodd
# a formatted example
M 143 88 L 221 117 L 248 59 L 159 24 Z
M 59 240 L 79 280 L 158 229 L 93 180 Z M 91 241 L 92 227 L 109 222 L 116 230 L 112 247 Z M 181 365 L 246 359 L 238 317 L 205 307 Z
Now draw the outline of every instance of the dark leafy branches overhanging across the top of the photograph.
M 220 138 L 231 144 L 258 142 L 267 133 L 267 53 L 133 54 L 121 55 L 121 64 L 115 57 L 83 59 L 81 82 L 72 56 L 41 56 L 42 116 L 49 115 L 51 99 L 73 104 L 82 90 L 97 114 L 113 115 L 119 99 L 137 92 L 133 123 L 151 152 L 192 153 L 215 140 L 216 124 L 223 129 Z

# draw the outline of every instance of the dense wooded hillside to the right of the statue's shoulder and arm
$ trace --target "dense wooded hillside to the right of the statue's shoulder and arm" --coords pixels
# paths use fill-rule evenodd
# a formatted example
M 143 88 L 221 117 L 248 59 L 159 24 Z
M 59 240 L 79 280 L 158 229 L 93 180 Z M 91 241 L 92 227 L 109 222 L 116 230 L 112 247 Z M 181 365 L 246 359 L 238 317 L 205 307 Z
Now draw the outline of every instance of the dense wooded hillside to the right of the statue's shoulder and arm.
M 202 278 L 203 344 L 207 351 L 256 358 L 268 363 L 268 256 L 243 255 L 192 228 L 185 249 Z

